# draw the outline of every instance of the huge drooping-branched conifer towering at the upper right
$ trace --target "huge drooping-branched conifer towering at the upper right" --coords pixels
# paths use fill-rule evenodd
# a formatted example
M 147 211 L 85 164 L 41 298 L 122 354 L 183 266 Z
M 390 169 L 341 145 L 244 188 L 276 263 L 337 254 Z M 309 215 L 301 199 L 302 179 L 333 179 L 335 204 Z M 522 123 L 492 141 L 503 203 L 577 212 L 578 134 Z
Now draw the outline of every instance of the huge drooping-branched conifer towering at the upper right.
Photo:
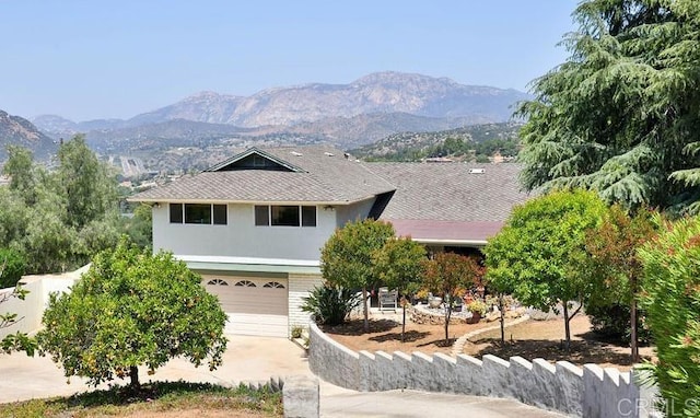
M 700 2 L 587 0 L 573 16 L 570 58 L 518 107 L 525 187 L 698 212 Z

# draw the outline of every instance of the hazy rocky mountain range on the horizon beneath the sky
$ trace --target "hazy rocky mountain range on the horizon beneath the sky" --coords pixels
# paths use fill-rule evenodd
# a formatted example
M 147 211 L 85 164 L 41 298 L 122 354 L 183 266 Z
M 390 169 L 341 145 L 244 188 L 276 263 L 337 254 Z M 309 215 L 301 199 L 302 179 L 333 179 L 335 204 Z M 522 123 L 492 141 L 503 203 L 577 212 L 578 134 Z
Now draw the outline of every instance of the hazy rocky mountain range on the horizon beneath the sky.
M 349 84 L 275 88 L 250 96 L 202 92 L 129 119 L 75 123 L 43 115 L 33 121 L 54 138 L 85 132 L 95 149 L 115 152 L 223 138 L 256 143 L 287 138 L 347 149 L 401 131 L 505 121 L 513 105 L 527 98 L 516 90 L 378 72 Z

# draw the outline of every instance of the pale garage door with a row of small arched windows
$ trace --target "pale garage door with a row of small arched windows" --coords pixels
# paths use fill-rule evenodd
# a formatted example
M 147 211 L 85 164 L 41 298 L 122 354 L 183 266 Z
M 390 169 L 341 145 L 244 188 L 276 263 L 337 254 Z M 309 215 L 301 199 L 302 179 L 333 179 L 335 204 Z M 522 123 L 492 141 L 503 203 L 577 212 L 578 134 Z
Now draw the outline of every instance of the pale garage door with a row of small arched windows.
M 229 315 L 228 334 L 288 336 L 287 279 L 205 276 L 205 286 Z

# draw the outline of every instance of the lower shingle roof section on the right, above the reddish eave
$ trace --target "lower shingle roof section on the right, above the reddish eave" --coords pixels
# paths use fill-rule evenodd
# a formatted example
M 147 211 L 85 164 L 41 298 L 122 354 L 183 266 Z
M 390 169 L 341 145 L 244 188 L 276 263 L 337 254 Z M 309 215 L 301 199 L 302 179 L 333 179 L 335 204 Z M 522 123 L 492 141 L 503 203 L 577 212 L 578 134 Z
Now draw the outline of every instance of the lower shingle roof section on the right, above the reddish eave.
M 396 186 L 380 219 L 392 222 L 398 235 L 419 241 L 485 243 L 500 231 L 513 207 L 528 198 L 520 189 L 518 164 L 366 165 Z

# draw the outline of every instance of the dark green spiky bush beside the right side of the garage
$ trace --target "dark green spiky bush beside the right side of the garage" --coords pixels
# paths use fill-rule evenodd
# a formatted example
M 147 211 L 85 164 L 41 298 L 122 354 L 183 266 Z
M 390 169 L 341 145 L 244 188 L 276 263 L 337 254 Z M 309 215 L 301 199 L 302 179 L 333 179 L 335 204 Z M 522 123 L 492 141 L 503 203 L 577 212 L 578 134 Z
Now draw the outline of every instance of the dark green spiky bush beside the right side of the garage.
M 314 315 L 317 324 L 339 325 L 346 322 L 350 311 L 360 304 L 360 298 L 350 289 L 336 286 L 316 287 L 304 298 L 302 311 Z

